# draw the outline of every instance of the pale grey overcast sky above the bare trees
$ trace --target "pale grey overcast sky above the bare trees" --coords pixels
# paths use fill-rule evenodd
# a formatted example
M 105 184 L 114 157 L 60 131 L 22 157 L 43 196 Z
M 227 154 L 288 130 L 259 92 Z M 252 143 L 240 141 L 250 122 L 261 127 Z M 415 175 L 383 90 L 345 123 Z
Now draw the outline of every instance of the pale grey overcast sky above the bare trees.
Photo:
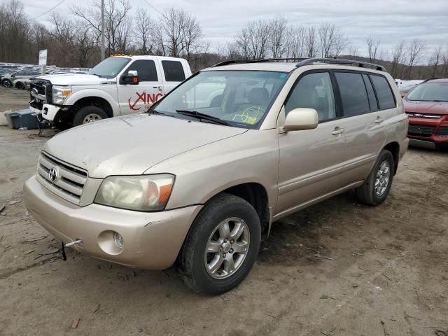
M 7 0 L 1 0 L 7 1 Z M 22 0 L 26 13 L 36 17 L 61 0 Z M 70 15 L 73 3 L 88 6 L 94 0 L 65 0 L 55 11 Z M 99 0 L 97 0 L 99 1 Z M 216 48 L 230 41 L 246 25 L 258 18 L 283 15 L 289 22 L 318 25 L 334 23 L 361 54 L 367 52 L 365 38 L 381 41 L 380 48 L 391 50 L 402 40 L 422 38 L 429 55 L 435 45 L 448 45 L 448 0 L 148 0 L 162 11 L 167 6 L 183 8 L 200 22 L 204 38 Z M 143 0 L 130 0 L 134 10 L 147 8 L 153 18 L 160 14 Z M 37 20 L 45 23 L 48 15 Z

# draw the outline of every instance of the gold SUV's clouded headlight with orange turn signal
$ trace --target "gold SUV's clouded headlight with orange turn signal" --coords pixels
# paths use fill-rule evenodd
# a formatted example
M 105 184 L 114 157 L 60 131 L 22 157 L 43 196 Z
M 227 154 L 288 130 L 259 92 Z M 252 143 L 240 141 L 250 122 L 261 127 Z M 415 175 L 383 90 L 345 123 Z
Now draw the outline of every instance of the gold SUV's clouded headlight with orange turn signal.
M 94 202 L 137 211 L 162 210 L 173 184 L 171 174 L 110 176 L 99 187 Z

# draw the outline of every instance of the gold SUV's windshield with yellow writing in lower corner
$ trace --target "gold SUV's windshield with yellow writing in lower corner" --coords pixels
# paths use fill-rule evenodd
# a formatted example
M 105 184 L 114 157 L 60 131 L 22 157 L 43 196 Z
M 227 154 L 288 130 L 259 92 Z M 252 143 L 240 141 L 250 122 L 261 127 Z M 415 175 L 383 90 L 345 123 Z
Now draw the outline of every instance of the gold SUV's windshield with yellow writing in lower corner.
M 151 110 L 180 118 L 192 111 L 231 126 L 258 128 L 286 78 L 288 73 L 272 71 L 204 71 L 176 87 Z

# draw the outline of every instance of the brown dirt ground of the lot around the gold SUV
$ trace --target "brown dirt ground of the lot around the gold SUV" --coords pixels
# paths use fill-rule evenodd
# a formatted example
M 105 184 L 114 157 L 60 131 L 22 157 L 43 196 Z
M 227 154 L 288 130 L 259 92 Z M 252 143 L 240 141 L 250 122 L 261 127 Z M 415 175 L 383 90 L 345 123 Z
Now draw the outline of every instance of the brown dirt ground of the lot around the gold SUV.
M 380 207 L 346 193 L 275 223 L 239 288 L 200 297 L 173 269 L 52 253 L 22 201 L 36 133 L 0 127 L 0 335 L 448 335 L 448 153 L 410 149 Z

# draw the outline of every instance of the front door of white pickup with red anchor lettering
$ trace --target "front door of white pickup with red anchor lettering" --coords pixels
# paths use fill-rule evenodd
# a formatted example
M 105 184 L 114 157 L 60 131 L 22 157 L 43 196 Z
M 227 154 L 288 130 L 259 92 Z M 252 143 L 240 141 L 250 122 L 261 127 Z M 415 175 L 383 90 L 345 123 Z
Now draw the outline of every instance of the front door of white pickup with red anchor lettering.
M 139 84 L 124 84 L 128 71 L 137 71 Z M 144 112 L 163 96 L 162 73 L 158 62 L 153 59 L 137 59 L 118 78 L 118 102 L 120 113 Z

